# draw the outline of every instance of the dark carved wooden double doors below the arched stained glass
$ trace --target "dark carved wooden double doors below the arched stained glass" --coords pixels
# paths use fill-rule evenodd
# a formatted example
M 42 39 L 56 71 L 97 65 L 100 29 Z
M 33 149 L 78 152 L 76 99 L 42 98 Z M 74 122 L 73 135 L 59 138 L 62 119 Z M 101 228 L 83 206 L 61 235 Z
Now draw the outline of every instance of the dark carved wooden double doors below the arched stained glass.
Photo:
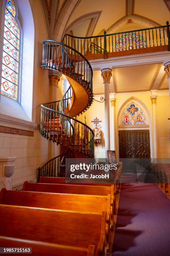
M 119 131 L 120 158 L 150 158 L 149 130 Z

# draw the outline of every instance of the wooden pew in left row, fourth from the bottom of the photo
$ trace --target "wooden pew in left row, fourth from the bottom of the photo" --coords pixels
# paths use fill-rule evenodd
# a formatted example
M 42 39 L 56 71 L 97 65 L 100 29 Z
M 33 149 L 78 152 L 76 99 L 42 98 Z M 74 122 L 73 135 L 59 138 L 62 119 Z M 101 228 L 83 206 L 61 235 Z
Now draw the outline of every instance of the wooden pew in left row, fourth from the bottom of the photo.
M 50 192 L 81 195 L 102 195 L 110 194 L 110 203 L 113 205 L 114 185 L 111 186 L 92 186 L 92 185 L 72 185 L 72 184 L 48 184 L 24 182 L 23 191 Z

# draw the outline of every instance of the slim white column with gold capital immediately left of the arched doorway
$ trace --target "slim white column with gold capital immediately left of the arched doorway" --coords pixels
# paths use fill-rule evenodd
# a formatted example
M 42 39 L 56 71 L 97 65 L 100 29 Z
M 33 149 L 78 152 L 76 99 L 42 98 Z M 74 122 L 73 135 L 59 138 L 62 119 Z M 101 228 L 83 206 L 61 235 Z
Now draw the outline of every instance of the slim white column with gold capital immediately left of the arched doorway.
M 110 102 L 111 102 L 111 113 L 110 113 L 110 135 L 111 135 L 111 140 L 110 140 L 110 150 L 115 150 L 115 93 L 110 94 Z

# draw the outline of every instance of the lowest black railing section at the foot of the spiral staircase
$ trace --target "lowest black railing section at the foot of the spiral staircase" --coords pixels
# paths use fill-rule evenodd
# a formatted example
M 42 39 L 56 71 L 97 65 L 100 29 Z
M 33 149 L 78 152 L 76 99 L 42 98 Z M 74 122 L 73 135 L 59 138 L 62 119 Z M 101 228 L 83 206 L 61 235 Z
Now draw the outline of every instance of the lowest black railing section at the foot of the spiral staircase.
M 67 150 L 65 153 L 55 156 L 42 167 L 39 167 L 38 175 L 37 175 L 37 182 L 39 182 L 40 177 L 65 177 L 65 159 L 66 158 L 73 158 L 74 155 L 71 150 Z

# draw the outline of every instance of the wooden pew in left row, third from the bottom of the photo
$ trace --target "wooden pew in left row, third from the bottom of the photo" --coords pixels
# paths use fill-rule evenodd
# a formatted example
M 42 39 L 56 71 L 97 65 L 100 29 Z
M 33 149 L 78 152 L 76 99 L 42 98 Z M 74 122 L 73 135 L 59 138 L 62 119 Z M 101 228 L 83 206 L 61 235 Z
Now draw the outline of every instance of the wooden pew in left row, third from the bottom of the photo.
M 40 207 L 74 212 L 99 213 L 106 212 L 107 246 L 111 243 L 110 225 L 113 228 L 113 215 L 110 214 L 110 195 L 72 195 L 45 192 L 27 192 L 1 189 L 0 204 Z M 110 244 L 111 246 L 112 244 Z

